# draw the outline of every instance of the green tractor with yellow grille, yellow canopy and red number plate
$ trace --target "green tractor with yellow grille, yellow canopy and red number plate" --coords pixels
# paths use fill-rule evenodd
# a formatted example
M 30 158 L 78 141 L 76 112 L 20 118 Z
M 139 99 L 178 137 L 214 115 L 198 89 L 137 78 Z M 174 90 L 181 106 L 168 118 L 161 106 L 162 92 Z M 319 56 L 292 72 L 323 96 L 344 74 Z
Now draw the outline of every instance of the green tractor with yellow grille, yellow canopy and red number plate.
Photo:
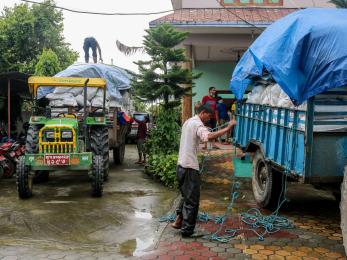
M 33 180 L 47 180 L 49 173 L 56 170 L 88 172 L 92 196 L 101 197 L 109 168 L 106 81 L 101 78 L 30 77 L 28 82 L 34 106 L 26 137 L 26 152 L 17 164 L 19 197 L 30 198 Z M 37 98 L 40 87 L 83 88 L 83 108 L 40 104 L 42 99 Z M 87 106 L 90 88 L 103 90 L 103 107 Z M 54 115 L 53 110 L 63 112 Z

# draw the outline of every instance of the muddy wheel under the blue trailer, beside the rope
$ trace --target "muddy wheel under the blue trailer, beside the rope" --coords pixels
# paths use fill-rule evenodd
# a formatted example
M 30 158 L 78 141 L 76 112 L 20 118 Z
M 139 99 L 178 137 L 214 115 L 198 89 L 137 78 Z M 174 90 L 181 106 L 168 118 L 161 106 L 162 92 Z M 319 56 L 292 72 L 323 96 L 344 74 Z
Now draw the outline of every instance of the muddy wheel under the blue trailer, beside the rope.
M 258 150 L 253 159 L 252 189 L 255 201 L 262 208 L 274 208 L 281 199 L 283 174 L 275 171 Z

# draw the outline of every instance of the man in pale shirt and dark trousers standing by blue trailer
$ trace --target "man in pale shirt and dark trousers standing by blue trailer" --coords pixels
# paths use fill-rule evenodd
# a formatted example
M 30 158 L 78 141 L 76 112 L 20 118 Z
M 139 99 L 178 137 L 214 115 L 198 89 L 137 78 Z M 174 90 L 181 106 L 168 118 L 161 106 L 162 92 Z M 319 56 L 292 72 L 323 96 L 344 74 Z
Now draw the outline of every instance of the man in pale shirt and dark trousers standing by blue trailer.
M 181 229 L 183 237 L 191 237 L 193 235 L 199 212 L 201 183 L 197 155 L 199 142 L 214 140 L 230 131 L 236 125 L 236 121 L 230 121 L 227 127 L 216 132 L 210 132 L 204 124 L 209 122 L 213 114 L 214 111 L 210 106 L 201 105 L 198 114 L 188 119 L 182 127 L 176 170 L 182 199 L 176 210 L 177 218 L 172 227 Z M 198 235 L 195 234 L 194 236 Z

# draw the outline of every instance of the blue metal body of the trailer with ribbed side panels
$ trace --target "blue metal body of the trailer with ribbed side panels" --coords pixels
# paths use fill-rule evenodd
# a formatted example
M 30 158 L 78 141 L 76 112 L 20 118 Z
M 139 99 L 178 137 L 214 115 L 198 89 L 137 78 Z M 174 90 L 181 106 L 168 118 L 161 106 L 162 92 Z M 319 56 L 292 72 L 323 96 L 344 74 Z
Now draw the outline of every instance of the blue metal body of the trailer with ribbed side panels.
M 235 145 L 261 152 L 273 172 L 339 187 L 347 165 L 347 89 L 311 98 L 307 111 L 238 103 L 236 119 Z

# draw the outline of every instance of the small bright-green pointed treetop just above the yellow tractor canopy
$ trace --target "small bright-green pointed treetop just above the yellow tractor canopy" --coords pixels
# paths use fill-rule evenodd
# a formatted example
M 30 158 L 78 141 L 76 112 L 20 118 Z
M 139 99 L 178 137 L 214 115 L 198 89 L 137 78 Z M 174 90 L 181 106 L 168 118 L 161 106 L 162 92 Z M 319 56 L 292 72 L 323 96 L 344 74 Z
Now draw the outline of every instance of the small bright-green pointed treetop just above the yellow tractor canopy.
M 61 68 L 57 54 L 52 50 L 44 49 L 35 66 L 35 75 L 54 76 L 59 71 Z

